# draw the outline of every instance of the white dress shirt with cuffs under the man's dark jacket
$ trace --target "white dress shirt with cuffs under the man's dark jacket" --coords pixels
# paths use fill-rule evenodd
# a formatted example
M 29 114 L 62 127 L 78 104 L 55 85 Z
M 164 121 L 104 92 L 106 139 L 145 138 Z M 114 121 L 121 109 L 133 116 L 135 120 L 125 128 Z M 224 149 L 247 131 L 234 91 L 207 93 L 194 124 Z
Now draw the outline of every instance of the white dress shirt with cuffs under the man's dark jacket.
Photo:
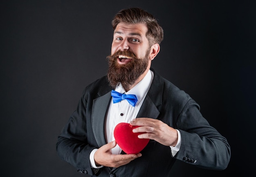
M 128 92 L 126 92 L 121 85 L 115 89 L 115 91 L 119 93 L 135 94 L 138 98 L 138 101 L 133 107 L 128 103 L 127 100 L 122 100 L 121 102 L 118 102 L 115 104 L 111 100 L 110 106 L 108 108 L 108 113 L 106 116 L 106 124 L 105 124 L 105 130 L 106 130 L 105 138 L 107 140 L 107 143 L 115 140 L 113 132 L 117 124 L 121 122 L 129 123 L 132 119 L 136 118 L 137 114 L 139 113 L 139 109 L 141 108 L 141 105 L 146 97 L 146 94 L 148 93 L 153 77 L 154 77 L 154 73 L 149 70 L 148 73 L 145 75 L 145 77 Z M 181 138 L 180 138 L 180 132 L 178 130 L 177 132 L 178 132 L 178 143 L 175 147 L 170 146 L 173 156 L 180 150 Z M 121 148 L 118 146 L 118 144 L 111 150 L 112 150 L 112 154 L 120 154 L 122 151 Z M 96 151 L 97 149 L 92 150 L 90 154 L 90 162 L 93 168 L 101 168 L 101 166 L 96 166 L 94 162 L 94 153 Z

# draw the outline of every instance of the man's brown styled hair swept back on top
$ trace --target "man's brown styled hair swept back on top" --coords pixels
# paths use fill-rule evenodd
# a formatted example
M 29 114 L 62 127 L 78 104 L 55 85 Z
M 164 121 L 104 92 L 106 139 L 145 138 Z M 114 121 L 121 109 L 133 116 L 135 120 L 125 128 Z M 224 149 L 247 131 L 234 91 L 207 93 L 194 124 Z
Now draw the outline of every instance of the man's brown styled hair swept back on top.
M 160 44 L 164 38 L 164 31 L 157 20 L 150 13 L 140 8 L 123 9 L 119 11 L 112 20 L 112 27 L 115 30 L 119 23 L 145 23 L 148 27 L 146 38 L 149 44 Z

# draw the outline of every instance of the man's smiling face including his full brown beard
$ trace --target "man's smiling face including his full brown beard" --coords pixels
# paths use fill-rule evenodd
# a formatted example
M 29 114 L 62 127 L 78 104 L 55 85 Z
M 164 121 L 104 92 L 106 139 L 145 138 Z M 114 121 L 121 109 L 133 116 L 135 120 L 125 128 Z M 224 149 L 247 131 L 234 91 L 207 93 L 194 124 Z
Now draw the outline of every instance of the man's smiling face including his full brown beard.
M 151 48 L 148 46 L 146 32 L 146 24 L 117 25 L 111 55 L 108 56 L 108 80 L 111 86 L 121 83 L 128 91 L 150 68 Z

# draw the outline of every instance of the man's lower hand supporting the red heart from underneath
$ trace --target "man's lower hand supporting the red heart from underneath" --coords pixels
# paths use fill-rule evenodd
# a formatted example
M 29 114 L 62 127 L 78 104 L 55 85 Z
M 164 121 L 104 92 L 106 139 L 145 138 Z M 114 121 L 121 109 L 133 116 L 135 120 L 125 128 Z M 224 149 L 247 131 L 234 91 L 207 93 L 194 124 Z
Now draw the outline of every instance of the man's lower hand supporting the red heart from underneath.
M 141 157 L 141 153 L 138 154 L 120 154 L 115 155 L 111 153 L 111 149 L 117 145 L 115 141 L 101 146 L 94 154 L 94 161 L 96 165 L 103 165 L 109 167 L 119 167 L 130 163 L 137 157 Z

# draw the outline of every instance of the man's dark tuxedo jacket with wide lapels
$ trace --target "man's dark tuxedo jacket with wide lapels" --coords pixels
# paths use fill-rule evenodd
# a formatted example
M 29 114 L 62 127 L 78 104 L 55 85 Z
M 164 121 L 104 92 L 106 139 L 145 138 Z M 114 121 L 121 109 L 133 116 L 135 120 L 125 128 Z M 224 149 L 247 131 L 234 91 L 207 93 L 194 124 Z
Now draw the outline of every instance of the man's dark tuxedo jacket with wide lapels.
M 159 119 L 180 130 L 180 151 L 150 140 L 142 156 L 119 168 L 90 166 L 90 153 L 106 144 L 105 117 L 111 100 L 107 77 L 88 85 L 58 137 L 57 153 L 79 172 L 99 177 L 168 177 L 176 159 L 202 168 L 223 170 L 230 159 L 227 139 L 209 125 L 199 105 L 184 91 L 154 72 L 153 82 L 137 117 Z M 124 153 L 124 152 L 122 152 Z

